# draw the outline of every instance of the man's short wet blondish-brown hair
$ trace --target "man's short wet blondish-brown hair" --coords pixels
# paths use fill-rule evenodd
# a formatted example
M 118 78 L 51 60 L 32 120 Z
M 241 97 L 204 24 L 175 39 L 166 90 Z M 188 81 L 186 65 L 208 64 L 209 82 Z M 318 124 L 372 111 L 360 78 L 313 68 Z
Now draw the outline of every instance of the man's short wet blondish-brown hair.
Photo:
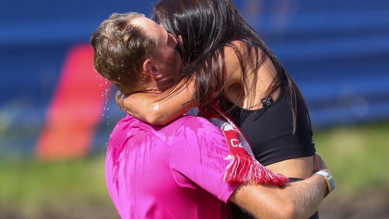
M 124 94 L 142 89 L 144 60 L 160 54 L 157 41 L 150 38 L 141 26 L 132 24 L 134 19 L 141 17 L 145 16 L 136 12 L 113 13 L 91 36 L 95 70 Z

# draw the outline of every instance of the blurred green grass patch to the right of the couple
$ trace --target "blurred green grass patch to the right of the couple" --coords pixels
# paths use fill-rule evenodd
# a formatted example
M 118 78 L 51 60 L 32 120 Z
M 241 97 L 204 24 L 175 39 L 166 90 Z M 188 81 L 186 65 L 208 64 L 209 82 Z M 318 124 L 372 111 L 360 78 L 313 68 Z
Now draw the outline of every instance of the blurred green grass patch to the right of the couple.
M 339 190 L 353 194 L 389 186 L 389 124 L 315 131 L 314 141 Z

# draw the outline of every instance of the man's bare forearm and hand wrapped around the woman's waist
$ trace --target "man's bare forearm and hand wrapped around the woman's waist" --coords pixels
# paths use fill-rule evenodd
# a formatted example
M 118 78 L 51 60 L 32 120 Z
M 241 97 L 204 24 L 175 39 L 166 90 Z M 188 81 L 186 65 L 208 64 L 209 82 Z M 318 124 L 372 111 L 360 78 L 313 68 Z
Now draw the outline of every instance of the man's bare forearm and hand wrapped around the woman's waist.
M 315 156 L 315 170 L 328 172 L 323 160 Z M 317 162 L 322 163 L 318 165 Z M 242 184 L 229 200 L 258 218 L 308 218 L 318 209 L 326 194 L 324 177 L 314 175 L 283 188 Z

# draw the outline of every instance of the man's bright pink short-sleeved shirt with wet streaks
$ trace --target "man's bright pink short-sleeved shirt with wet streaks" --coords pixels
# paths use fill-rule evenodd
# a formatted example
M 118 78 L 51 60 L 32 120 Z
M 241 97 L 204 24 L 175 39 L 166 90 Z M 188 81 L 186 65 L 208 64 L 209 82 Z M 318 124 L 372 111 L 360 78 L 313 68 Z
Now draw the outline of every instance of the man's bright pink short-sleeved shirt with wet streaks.
M 238 186 L 221 180 L 228 154 L 204 118 L 152 126 L 127 115 L 109 139 L 107 189 L 122 218 L 228 218 Z

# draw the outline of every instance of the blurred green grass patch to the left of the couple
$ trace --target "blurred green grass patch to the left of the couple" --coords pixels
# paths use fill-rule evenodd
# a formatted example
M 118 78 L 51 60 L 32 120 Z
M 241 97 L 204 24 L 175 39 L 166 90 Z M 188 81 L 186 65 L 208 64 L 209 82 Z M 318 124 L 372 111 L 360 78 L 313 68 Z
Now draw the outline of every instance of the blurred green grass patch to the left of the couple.
M 38 162 L 0 163 L 0 203 L 10 206 L 61 207 L 68 203 L 110 203 L 105 188 L 104 156 Z

